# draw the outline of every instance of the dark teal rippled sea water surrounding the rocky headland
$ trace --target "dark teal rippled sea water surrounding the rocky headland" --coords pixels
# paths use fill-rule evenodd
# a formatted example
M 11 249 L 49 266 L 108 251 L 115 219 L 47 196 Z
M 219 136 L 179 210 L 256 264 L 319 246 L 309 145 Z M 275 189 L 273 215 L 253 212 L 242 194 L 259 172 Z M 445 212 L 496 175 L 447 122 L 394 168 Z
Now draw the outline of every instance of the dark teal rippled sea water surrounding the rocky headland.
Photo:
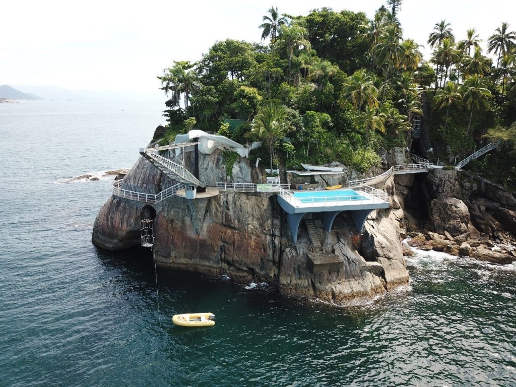
M 516 265 L 422 252 L 348 308 L 158 268 L 158 312 L 150 250 L 91 244 L 112 178 L 67 182 L 131 167 L 161 109 L 0 104 L 0 386 L 516 385 Z

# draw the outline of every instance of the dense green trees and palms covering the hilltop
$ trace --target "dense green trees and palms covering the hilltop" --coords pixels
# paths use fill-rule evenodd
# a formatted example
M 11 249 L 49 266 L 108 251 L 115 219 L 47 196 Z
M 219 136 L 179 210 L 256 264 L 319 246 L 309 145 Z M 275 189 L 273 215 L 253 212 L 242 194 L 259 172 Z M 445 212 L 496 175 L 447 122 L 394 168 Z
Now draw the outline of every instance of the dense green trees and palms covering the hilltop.
M 456 42 L 445 20 L 429 36 L 434 51 L 425 62 L 420 45 L 402 37 L 401 0 L 387 5 L 372 20 L 329 8 L 291 17 L 271 7 L 260 26 L 269 44 L 227 39 L 198 62 L 175 61 L 159 77 L 170 96 L 162 141 L 195 119 L 204 131 L 262 141 L 254 157 L 267 157 L 271 168 L 281 156 L 288 167 L 338 161 L 366 170 L 379 164 L 378 149 L 410 146 L 410 122 L 422 107 L 434 155 L 448 163 L 480 147 L 488 128 L 514 122 L 507 23 L 488 40 L 497 66 L 482 55 L 474 28 Z M 230 130 L 224 119 L 246 124 Z

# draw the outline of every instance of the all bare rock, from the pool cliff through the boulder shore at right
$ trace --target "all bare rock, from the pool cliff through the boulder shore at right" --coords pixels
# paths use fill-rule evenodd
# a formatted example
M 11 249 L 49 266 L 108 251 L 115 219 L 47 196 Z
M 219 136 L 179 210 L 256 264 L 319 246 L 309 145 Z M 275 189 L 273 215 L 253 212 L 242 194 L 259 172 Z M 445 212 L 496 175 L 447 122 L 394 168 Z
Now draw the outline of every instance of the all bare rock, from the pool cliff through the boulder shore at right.
M 265 171 L 241 157 L 230 179 L 220 153 L 200 159 L 200 180 L 207 186 L 265 181 Z M 402 149 L 384 153 L 385 169 L 408 162 Z M 378 172 L 369 171 L 366 176 Z M 364 175 L 347 170 L 342 175 L 314 176 L 312 184 L 322 188 L 357 177 Z M 140 157 L 121 188 L 155 194 L 173 183 Z M 512 193 L 490 190 L 458 171 L 445 170 L 391 176 L 375 187 L 388 193 L 390 208 L 373 211 L 363 234 L 349 213 L 338 215 L 330 232 L 323 229 L 320 214 L 305 216 L 314 224 L 320 251 L 304 225 L 293 243 L 276 193 L 256 192 L 220 191 L 195 200 L 173 196 L 152 205 L 112 196 L 95 220 L 92 241 L 109 250 L 139 246 L 140 220 L 150 218 L 154 256 L 160 266 L 229 276 L 240 283 L 267 282 L 283 295 L 337 305 L 406 285 L 409 273 L 401 241 L 407 236 L 420 249 L 467 253 L 497 264 L 514 261 L 511 251 L 490 249 L 513 240 L 501 223 L 512 224 L 510 214 L 516 209 Z M 331 265 L 319 264 L 321 255 L 330 257 Z

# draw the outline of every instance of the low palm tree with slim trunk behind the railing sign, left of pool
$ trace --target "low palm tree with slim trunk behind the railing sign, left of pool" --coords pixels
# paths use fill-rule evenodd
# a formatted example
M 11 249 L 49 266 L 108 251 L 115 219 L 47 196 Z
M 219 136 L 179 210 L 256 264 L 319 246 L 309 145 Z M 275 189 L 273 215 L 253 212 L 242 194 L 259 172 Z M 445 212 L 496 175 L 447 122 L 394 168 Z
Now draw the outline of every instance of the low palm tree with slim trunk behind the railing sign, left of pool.
M 258 110 L 251 122 L 251 132 L 246 134 L 248 137 L 260 138 L 266 142 L 270 154 L 271 171 L 275 142 L 294 130 L 286 118 L 287 111 L 283 106 L 269 102 Z

